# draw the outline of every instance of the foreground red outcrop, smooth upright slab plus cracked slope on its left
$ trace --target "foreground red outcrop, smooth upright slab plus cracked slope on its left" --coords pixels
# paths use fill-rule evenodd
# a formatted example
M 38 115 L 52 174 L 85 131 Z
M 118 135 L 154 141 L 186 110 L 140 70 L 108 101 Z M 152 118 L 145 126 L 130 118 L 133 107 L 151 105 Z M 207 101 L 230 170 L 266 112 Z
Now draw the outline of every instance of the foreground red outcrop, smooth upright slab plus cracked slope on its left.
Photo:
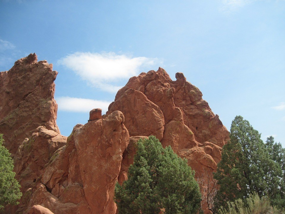
M 30 199 L 23 210 L 39 204 L 57 214 L 115 214 L 115 183 L 128 144 L 120 111 L 76 125 L 66 145 L 53 153 L 37 183 L 26 191 Z

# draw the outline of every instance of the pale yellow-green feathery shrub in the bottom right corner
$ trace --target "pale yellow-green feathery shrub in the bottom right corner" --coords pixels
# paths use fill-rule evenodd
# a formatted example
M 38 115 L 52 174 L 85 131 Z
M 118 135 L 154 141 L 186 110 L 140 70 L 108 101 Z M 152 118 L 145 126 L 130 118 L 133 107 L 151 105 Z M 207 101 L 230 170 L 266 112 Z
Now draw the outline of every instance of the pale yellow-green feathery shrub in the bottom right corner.
M 273 208 L 267 197 L 259 198 L 256 193 L 250 194 L 245 201 L 237 199 L 227 202 L 227 209 L 221 207 L 219 214 L 281 214 L 280 210 Z

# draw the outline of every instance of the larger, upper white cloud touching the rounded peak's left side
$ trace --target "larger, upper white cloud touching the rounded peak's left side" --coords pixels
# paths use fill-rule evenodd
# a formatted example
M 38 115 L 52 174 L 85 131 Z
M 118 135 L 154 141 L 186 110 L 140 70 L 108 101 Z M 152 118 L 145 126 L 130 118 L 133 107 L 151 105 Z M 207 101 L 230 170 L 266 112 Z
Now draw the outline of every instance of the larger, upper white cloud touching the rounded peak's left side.
M 158 61 L 156 58 L 132 58 L 114 52 L 101 54 L 76 52 L 60 59 L 58 63 L 73 70 L 96 88 L 117 92 L 121 86 L 115 86 L 115 82 L 139 74 L 142 68 L 153 66 L 156 61 Z

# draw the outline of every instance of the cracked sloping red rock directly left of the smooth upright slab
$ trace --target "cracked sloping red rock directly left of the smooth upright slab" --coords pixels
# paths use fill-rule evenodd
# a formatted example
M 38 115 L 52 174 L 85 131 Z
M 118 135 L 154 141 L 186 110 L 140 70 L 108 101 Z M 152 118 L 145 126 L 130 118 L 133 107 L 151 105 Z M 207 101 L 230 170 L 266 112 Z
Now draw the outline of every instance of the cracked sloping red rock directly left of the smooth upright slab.
M 35 185 L 24 196 L 28 198 L 18 213 L 29 211 L 34 205 L 41 205 L 53 213 L 91 213 L 83 190 L 83 181 L 78 165 L 78 153 L 74 142 L 74 127 L 66 145 L 56 150 L 42 169 Z

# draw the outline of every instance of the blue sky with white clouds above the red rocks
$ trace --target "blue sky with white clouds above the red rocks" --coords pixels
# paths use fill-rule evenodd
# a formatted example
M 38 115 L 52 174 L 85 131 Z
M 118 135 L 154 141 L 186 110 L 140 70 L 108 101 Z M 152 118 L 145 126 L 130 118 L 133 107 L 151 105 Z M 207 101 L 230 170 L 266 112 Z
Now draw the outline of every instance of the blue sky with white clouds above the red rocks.
M 58 71 L 68 136 L 131 76 L 183 72 L 228 128 L 236 115 L 285 147 L 285 1 L 0 1 L 0 70 L 36 53 Z

